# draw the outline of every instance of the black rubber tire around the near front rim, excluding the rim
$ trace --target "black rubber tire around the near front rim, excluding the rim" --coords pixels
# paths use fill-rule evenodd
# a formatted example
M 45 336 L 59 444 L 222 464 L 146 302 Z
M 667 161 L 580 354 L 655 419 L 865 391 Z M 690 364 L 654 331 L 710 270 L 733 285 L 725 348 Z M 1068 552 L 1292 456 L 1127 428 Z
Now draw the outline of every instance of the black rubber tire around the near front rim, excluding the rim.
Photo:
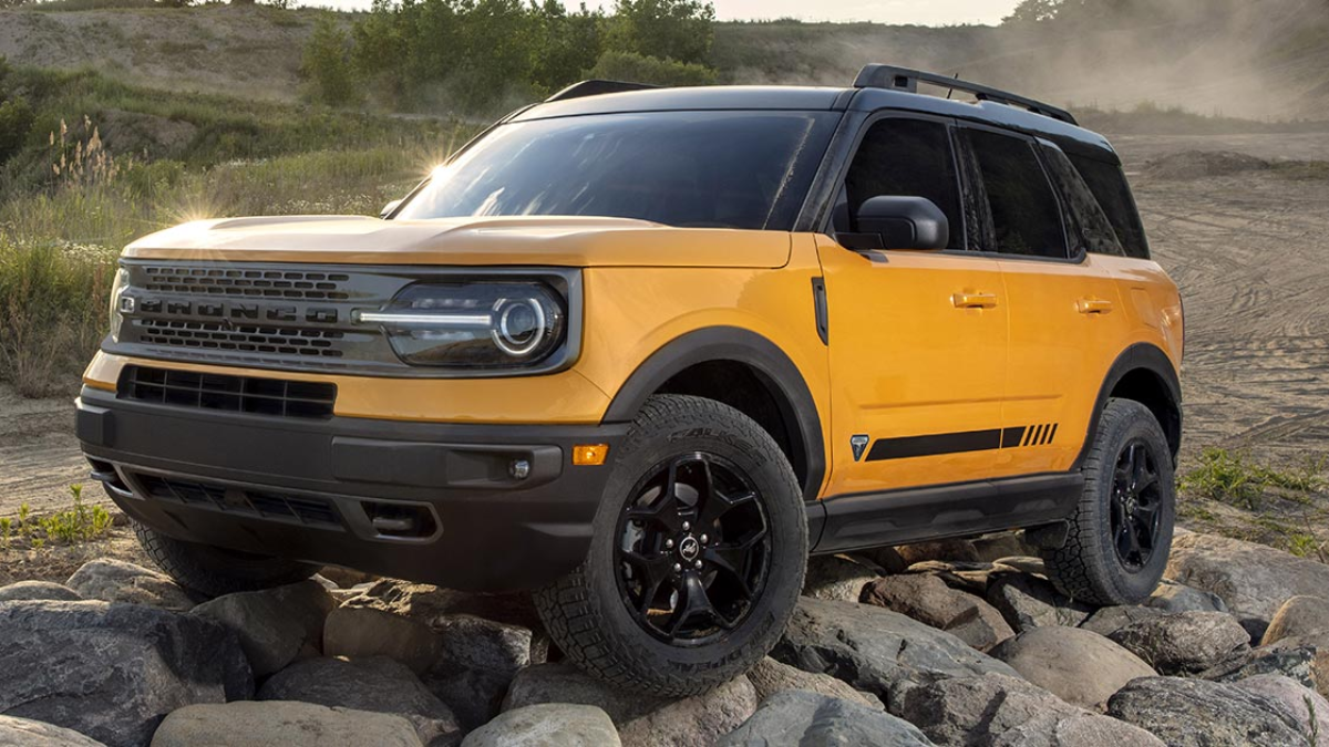
M 764 500 L 771 550 L 764 589 L 746 619 L 714 643 L 683 647 L 653 638 L 629 613 L 618 587 L 614 542 L 621 541 L 618 518 L 638 481 L 662 460 L 698 451 L 728 460 L 751 479 Z M 743 674 L 779 641 L 803 587 L 807 513 L 789 461 L 738 409 L 661 395 L 637 416 L 613 469 L 586 560 L 534 594 L 554 643 L 593 677 L 661 696 L 696 695 Z

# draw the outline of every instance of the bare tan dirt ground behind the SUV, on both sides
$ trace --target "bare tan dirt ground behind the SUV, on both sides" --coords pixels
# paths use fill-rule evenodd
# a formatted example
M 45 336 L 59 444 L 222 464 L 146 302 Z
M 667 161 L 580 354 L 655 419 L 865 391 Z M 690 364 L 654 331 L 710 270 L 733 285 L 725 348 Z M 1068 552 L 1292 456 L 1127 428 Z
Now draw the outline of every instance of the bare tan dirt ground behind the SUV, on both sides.
M 1329 133 L 1123 136 L 1114 142 L 1132 175 L 1155 258 L 1185 299 L 1183 471 L 1204 447 L 1277 465 L 1329 455 L 1329 170 L 1305 178 L 1280 169 L 1201 169 L 1164 178 L 1156 165 L 1195 150 L 1329 161 Z M 0 517 L 23 502 L 35 513 L 65 506 L 74 482 L 86 482 L 86 465 L 70 401 L 23 400 L 0 388 Z M 86 485 L 85 496 L 105 500 L 96 485 Z M 1313 524 L 1313 533 L 1329 538 L 1326 505 L 1329 496 L 1320 496 L 1306 513 L 1298 502 L 1301 518 L 1293 524 Z M 1277 505 L 1269 512 L 1278 513 Z M 1188 514 L 1201 524 L 1197 529 L 1229 533 L 1260 520 L 1228 506 Z M 1248 536 L 1259 538 L 1259 532 Z

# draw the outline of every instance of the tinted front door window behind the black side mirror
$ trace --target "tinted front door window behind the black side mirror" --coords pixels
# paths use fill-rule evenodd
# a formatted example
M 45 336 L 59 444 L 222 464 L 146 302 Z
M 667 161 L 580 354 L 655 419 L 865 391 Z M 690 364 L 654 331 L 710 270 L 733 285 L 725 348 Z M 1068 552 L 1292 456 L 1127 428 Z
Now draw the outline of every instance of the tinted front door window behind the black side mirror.
M 844 179 L 849 230 L 857 230 L 859 207 L 872 197 L 925 197 L 950 222 L 948 249 L 964 249 L 960 183 L 950 133 L 941 122 L 890 118 L 872 125 Z

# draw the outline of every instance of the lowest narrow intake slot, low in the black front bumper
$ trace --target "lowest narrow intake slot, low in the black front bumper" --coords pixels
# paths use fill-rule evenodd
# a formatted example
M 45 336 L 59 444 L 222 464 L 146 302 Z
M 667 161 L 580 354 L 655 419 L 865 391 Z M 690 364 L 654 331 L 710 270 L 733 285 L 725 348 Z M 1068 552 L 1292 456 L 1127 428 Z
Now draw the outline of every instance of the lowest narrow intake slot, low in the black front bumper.
M 215 482 L 195 482 L 145 473 L 136 475 L 134 480 L 150 498 L 304 526 L 343 528 L 336 505 L 327 498 L 227 488 Z

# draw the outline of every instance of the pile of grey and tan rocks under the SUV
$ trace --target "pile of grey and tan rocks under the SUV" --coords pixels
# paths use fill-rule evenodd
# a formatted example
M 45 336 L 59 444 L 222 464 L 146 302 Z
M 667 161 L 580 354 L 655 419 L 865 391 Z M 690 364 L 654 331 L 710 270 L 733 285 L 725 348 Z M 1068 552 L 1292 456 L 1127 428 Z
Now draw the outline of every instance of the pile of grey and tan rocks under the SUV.
M 0 587 L 0 746 L 1329 746 L 1329 566 L 1183 533 L 1144 605 L 1018 536 L 816 558 L 771 657 L 655 699 L 524 595 L 324 569 L 201 599 L 113 558 Z

